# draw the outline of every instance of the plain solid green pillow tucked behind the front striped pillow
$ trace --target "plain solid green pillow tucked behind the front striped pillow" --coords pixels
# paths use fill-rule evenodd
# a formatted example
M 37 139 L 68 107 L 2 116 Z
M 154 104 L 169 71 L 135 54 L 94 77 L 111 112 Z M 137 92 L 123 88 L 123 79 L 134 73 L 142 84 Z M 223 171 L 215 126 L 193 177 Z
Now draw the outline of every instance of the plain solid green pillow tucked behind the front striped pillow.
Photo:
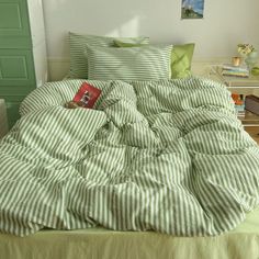
M 117 47 L 135 47 L 136 44 L 114 40 Z M 137 46 L 143 46 L 138 44 Z M 191 75 L 194 44 L 173 45 L 171 54 L 171 78 L 184 78 Z

